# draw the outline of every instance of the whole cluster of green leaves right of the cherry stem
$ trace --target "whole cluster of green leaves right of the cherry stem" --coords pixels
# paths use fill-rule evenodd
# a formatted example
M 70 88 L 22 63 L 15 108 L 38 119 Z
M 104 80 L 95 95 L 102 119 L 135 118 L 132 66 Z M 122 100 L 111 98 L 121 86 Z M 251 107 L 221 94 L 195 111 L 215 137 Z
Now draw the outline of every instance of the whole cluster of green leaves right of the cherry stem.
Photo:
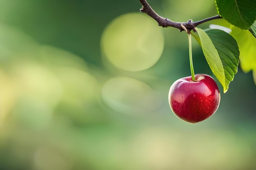
M 254 0 L 216 0 L 218 13 L 230 23 L 231 34 L 222 30 L 192 33 L 224 93 L 238 71 L 256 74 L 256 2 Z M 256 77 L 256 75 L 254 75 Z

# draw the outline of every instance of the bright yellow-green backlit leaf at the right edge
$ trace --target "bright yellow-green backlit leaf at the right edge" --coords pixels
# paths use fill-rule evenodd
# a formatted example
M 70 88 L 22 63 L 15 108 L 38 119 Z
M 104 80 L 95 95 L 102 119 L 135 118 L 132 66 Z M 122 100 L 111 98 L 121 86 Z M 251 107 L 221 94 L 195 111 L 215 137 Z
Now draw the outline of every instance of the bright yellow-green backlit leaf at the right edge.
M 240 51 L 240 66 L 247 73 L 256 71 L 256 38 L 249 30 L 241 30 L 235 26 L 231 26 L 231 35 L 238 43 Z

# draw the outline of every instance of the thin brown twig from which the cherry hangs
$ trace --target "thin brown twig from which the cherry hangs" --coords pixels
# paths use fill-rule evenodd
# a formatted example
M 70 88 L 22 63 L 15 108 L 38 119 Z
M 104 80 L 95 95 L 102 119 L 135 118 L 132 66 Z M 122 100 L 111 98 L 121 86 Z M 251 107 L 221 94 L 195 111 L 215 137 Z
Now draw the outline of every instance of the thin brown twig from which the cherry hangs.
M 189 20 L 188 22 L 173 22 L 173 21 L 169 20 L 168 18 L 164 18 L 164 17 L 158 15 L 150 7 L 150 5 L 148 4 L 148 2 L 146 0 L 139 0 L 139 2 L 142 4 L 142 8 L 140 9 L 140 11 L 148 14 L 150 17 L 152 17 L 154 20 L 156 20 L 158 22 L 159 26 L 162 26 L 162 27 L 171 26 L 171 27 L 180 29 L 180 32 L 181 31 L 190 32 L 191 30 L 196 31 L 195 26 L 198 26 L 199 24 L 202 24 L 202 23 L 210 21 L 210 20 L 222 18 L 220 15 L 216 15 L 216 16 L 213 16 L 210 18 L 206 18 L 204 20 L 197 21 L 197 22 L 193 22 L 192 20 Z

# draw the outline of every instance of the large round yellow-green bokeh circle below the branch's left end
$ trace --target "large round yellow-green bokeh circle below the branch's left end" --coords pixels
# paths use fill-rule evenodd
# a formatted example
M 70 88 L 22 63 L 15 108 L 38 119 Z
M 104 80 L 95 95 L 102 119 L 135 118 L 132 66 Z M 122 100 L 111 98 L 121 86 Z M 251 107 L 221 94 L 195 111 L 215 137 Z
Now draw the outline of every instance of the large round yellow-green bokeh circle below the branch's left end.
M 142 71 L 159 60 L 164 35 L 152 18 L 142 13 L 128 13 L 115 18 L 106 27 L 101 49 L 117 68 Z

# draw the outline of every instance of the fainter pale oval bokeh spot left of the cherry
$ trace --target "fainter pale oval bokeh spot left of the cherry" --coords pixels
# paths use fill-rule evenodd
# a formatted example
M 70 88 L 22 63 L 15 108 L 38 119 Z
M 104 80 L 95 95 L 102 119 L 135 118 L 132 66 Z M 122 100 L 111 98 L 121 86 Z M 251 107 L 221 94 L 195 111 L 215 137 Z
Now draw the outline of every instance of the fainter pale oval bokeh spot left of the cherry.
M 103 102 L 113 110 L 127 115 L 144 115 L 161 105 L 159 96 L 144 82 L 130 77 L 115 77 L 103 84 Z

